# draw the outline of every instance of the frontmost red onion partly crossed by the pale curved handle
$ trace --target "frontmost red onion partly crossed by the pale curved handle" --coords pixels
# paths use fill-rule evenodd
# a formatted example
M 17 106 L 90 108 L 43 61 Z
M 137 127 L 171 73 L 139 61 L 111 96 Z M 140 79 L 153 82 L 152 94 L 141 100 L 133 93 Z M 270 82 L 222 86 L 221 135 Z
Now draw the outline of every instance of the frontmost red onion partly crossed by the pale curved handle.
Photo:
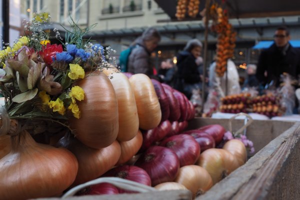
M 132 180 L 144 185 L 151 186 L 150 176 L 145 170 L 134 165 L 119 165 L 102 175 L 103 177 L 119 177 L 126 180 Z M 135 193 L 134 191 L 127 191 L 118 188 L 119 193 Z

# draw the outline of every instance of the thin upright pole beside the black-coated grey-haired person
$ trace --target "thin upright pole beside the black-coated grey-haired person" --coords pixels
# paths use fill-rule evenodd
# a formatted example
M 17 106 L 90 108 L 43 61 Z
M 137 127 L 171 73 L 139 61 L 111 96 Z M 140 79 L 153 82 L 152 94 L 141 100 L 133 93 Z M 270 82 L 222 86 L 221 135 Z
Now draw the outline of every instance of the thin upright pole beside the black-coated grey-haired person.
M 203 47 L 203 79 L 202 81 L 202 107 L 201 113 L 203 113 L 205 103 L 205 77 L 206 77 L 206 66 L 207 66 L 207 38 L 208 38 L 208 17 L 209 17 L 209 4 L 210 0 L 205 1 L 205 20 L 204 20 L 204 47 Z

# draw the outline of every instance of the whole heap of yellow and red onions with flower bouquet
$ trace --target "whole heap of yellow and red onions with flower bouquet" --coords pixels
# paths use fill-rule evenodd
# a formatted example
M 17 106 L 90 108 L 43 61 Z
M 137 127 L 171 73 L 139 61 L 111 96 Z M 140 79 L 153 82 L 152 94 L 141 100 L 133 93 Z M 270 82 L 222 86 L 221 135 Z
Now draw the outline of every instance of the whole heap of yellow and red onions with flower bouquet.
M 196 197 L 246 161 L 245 135 L 219 124 L 186 130 L 195 107 L 183 93 L 119 72 L 101 45 L 81 43 L 81 30 L 65 47 L 45 42 L 37 19 L 33 38 L 2 51 L 1 199 L 61 196 L 98 177 Z M 77 195 L 130 192 L 99 183 Z

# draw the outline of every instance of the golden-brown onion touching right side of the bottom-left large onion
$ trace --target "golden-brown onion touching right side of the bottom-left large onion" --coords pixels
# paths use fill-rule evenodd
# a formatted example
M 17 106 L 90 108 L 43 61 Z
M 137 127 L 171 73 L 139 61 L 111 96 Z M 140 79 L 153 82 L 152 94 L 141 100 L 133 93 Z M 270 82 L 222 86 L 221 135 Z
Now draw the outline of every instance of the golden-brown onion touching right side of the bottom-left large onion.
M 58 145 L 70 150 L 78 160 L 78 172 L 72 185 L 99 177 L 115 165 L 121 154 L 117 141 L 97 149 L 84 145 L 72 135 L 67 135 L 59 140 Z

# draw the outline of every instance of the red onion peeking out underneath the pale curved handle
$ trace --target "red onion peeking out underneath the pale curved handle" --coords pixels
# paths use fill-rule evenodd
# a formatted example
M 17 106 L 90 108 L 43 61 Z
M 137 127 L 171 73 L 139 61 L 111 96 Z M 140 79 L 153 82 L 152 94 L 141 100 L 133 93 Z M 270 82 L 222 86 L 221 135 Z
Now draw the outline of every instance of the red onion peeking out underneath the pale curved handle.
M 117 194 L 118 189 L 106 182 L 102 182 L 99 184 L 90 185 L 88 187 L 85 187 L 84 189 L 81 189 L 76 193 L 76 195 L 98 195 L 98 194 Z

